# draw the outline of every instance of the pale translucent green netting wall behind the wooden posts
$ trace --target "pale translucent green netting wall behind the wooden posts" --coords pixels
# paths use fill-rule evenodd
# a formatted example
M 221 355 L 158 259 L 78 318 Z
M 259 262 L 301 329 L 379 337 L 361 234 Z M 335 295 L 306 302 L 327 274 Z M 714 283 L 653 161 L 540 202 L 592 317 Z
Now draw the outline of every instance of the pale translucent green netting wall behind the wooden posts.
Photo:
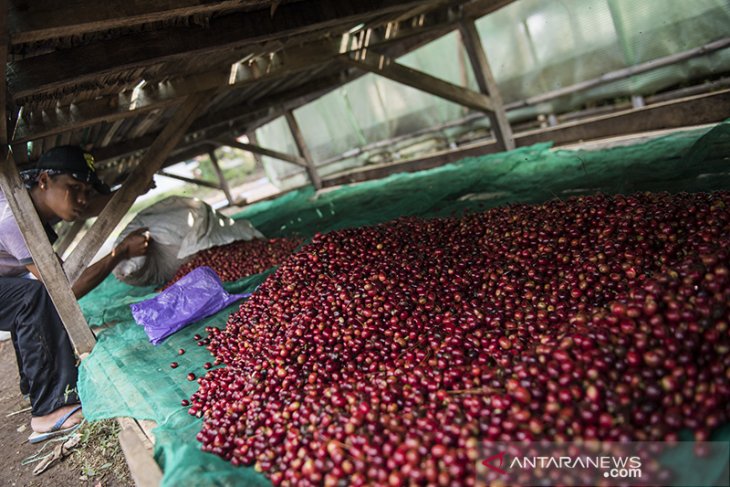
M 501 98 L 519 102 L 609 72 L 686 52 L 727 38 L 727 0 L 520 0 L 485 15 L 476 27 Z M 457 86 L 478 91 L 459 33 L 453 31 L 398 58 L 398 62 Z M 509 110 L 513 124 L 538 114 L 561 114 L 632 96 L 700 84 L 727 75 L 730 49 Z M 486 117 L 427 137 L 353 148 L 415 134 L 475 114 L 424 91 L 367 74 L 295 110 L 312 157 L 323 177 L 381 160 L 395 160 L 401 150 L 445 148 L 468 134 L 484 133 Z M 263 147 L 296 154 L 289 126 L 280 117 L 256 130 Z M 425 140 L 424 140 L 425 139 Z M 353 154 L 339 162 L 328 159 Z M 407 155 L 402 156 L 407 157 Z M 307 184 L 306 172 L 294 164 L 263 157 L 273 184 L 289 189 Z

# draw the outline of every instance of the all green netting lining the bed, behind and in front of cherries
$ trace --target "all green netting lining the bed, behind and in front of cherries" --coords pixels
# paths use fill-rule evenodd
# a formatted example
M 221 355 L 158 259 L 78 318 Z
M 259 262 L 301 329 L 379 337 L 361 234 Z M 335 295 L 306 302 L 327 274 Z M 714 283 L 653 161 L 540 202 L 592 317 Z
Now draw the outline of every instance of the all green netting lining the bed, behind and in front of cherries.
M 728 154 L 730 121 L 711 130 L 677 132 L 597 151 L 552 150 L 550 144 L 539 144 L 344 186 L 316 198 L 311 188 L 301 189 L 251 205 L 235 218 L 251 220 L 270 237 L 311 237 L 400 216 L 450 216 L 596 192 L 727 190 Z M 253 291 L 270 272 L 228 283 L 226 289 Z M 201 375 L 202 364 L 212 361 L 193 335 L 204 335 L 211 324 L 224 326 L 238 304 L 153 346 L 129 309 L 129 304 L 152 296 L 153 287 L 127 286 L 110 276 L 80 301 L 92 326 L 115 323 L 99 333 L 98 344 L 81 364 L 84 414 L 92 421 L 121 416 L 155 421 L 155 457 L 164 471 L 163 485 L 268 485 L 252 468 L 234 468 L 201 452 L 195 440 L 201 420 L 180 405 L 197 388 L 187 380 L 188 372 Z M 178 355 L 180 348 L 186 350 L 184 355 Z M 173 361 L 180 366 L 172 369 Z M 724 428 L 719 438 L 729 437 Z

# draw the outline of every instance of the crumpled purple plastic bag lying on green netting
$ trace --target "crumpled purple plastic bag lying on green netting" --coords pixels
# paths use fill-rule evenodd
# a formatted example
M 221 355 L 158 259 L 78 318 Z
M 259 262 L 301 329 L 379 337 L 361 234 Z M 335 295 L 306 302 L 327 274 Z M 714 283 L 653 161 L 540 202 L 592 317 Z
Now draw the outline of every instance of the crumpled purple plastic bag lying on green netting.
M 153 345 L 187 325 L 251 294 L 228 294 L 210 267 L 198 267 L 152 299 L 131 304 L 132 316 Z

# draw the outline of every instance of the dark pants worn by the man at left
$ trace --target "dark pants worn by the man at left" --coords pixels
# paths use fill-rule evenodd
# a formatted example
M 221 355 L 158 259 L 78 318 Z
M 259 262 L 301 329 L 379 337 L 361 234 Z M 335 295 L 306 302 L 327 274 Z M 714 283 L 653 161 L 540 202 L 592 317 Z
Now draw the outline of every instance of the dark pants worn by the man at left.
M 0 330 L 12 334 L 33 416 L 79 402 L 76 356 L 42 282 L 0 277 Z

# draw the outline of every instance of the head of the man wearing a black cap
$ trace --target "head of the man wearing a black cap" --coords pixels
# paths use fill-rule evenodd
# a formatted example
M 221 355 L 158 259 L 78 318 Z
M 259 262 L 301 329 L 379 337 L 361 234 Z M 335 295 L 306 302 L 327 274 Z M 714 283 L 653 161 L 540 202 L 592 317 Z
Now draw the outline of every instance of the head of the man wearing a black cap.
M 109 193 L 109 187 L 96 175 L 94 158 L 77 146 L 54 147 L 21 175 L 36 195 L 39 213 L 50 220 L 76 220 L 84 213 L 94 189 Z

